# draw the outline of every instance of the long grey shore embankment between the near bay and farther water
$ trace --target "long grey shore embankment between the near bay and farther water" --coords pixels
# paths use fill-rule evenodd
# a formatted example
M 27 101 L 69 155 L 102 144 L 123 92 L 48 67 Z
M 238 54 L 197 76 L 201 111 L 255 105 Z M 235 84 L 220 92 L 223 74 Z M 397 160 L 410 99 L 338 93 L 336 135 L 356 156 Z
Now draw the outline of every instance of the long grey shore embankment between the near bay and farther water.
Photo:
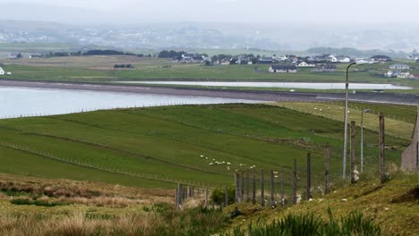
M 105 83 L 78 83 L 78 82 L 48 82 L 29 80 L 0 80 L 0 87 L 21 87 L 38 89 L 70 89 L 107 91 L 120 93 L 141 93 L 155 95 L 171 95 L 186 97 L 220 97 L 232 99 L 245 99 L 261 102 L 313 102 L 344 100 L 343 93 L 315 93 L 315 92 L 287 92 L 264 90 L 237 90 L 237 89 L 206 89 L 206 88 L 180 88 L 171 86 L 143 86 L 143 85 L 115 85 Z M 418 105 L 419 96 L 415 94 L 392 94 L 357 92 L 349 94 L 350 101 L 366 103 L 384 103 L 398 105 Z

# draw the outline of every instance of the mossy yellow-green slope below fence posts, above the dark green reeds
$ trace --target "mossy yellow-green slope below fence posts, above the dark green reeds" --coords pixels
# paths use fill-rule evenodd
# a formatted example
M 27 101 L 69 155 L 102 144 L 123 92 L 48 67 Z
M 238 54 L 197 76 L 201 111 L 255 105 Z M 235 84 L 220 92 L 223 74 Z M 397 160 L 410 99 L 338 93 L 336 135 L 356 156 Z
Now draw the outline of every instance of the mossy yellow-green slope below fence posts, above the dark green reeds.
M 363 181 L 336 189 L 327 196 L 303 201 L 297 206 L 271 208 L 239 204 L 237 206 L 244 215 L 235 218 L 232 227 L 245 228 L 248 223 L 257 221 L 269 223 L 288 214 L 312 213 L 328 222 L 327 209 L 330 208 L 338 218 L 353 211 L 362 212 L 367 219 L 381 226 L 383 235 L 418 235 L 419 175 L 393 172 L 390 174 L 391 179 L 382 185 L 379 178 L 372 176 L 374 175 L 361 175 Z M 234 207 L 228 206 L 225 211 L 232 211 Z

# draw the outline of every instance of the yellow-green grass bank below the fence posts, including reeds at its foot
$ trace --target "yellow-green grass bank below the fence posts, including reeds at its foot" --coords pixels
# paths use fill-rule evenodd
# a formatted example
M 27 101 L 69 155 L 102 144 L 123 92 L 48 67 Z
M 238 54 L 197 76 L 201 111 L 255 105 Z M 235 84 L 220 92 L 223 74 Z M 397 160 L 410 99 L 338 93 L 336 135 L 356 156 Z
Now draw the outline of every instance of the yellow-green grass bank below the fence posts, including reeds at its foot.
M 271 208 L 269 206 L 252 206 L 246 203 L 240 204 L 238 207 L 242 210 L 243 215 L 235 218 L 231 233 L 233 235 L 245 235 L 244 232 L 249 235 L 293 235 L 286 232 L 307 230 L 302 228 L 303 220 L 309 225 L 307 227 L 315 226 L 317 232 L 322 232 L 326 230 L 322 226 L 344 227 L 348 219 L 354 218 L 353 220 L 357 223 L 369 225 L 369 229 L 380 227 L 382 235 L 417 235 L 419 233 L 417 225 L 419 221 L 419 179 L 417 174 L 390 173 L 390 179 L 385 184 L 380 184 L 375 176 L 377 175 L 364 174 L 361 176 L 363 181 L 357 184 L 336 189 L 322 198 L 303 201 L 297 206 Z M 226 211 L 231 211 L 233 207 L 235 206 L 229 206 Z M 332 217 L 330 217 L 330 213 L 333 215 Z M 288 217 L 292 218 L 287 219 Z M 297 221 L 298 217 L 304 219 Z M 281 226 L 283 221 L 291 222 L 295 227 L 300 225 L 300 227 L 293 229 L 290 229 L 289 225 L 283 227 L 284 225 Z M 297 222 L 295 223 L 295 221 Z M 341 222 L 336 224 L 333 221 Z M 362 229 L 361 225 L 358 225 L 357 229 Z M 285 234 L 274 232 L 285 232 Z M 304 235 L 378 235 L 377 233 L 345 233 L 342 231 L 330 234 L 326 232 L 310 233 Z

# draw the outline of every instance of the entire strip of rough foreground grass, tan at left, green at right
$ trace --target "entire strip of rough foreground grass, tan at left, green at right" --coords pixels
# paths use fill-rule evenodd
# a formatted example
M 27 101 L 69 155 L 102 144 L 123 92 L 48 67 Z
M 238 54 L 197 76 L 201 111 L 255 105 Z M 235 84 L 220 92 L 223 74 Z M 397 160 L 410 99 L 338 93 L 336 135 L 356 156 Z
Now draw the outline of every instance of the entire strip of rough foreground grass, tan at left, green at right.
M 203 208 L 203 195 L 198 193 L 184 203 L 183 210 L 173 206 L 174 199 L 169 196 L 173 191 L 1 174 L 0 233 L 417 235 L 419 181 L 415 174 L 392 171 L 385 184 L 375 181 L 375 174 L 363 174 L 362 181 L 355 185 L 296 206 L 273 208 L 243 203 L 224 209 Z M 22 204 L 19 199 L 36 199 L 44 204 Z M 66 204 L 51 204 L 54 202 Z M 229 215 L 236 206 L 242 215 L 231 220 Z

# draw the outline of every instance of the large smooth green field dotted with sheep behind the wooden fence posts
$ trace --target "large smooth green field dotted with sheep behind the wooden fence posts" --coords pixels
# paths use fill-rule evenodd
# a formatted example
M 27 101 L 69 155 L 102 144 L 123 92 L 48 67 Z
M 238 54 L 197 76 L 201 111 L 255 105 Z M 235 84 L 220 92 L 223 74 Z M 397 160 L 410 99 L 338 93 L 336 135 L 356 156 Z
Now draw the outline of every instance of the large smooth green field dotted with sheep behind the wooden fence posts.
M 415 114 L 415 108 L 406 113 Z M 331 174 L 340 176 L 342 126 L 272 105 L 180 105 L 1 120 L 0 172 L 145 188 L 171 188 L 175 181 L 226 186 L 235 170 L 252 165 L 267 171 L 285 165 L 290 174 L 294 158 L 304 178 L 305 155 L 311 152 L 313 181 L 321 183 L 327 142 Z M 367 129 L 364 156 L 373 168 L 378 134 Z M 398 164 L 408 140 L 386 141 L 396 147 L 387 152 L 388 161 Z

